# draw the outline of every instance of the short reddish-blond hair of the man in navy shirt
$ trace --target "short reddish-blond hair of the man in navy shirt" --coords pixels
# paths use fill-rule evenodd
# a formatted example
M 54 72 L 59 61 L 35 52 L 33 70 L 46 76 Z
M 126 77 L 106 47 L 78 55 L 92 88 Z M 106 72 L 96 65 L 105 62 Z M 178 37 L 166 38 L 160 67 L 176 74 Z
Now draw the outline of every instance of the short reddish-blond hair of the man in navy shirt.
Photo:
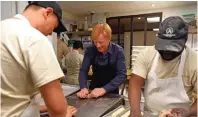
M 96 24 L 92 30 L 91 39 L 94 40 L 100 34 L 102 34 L 104 37 L 107 37 L 109 40 L 111 40 L 112 30 L 111 30 L 110 26 L 106 23 L 105 24 Z

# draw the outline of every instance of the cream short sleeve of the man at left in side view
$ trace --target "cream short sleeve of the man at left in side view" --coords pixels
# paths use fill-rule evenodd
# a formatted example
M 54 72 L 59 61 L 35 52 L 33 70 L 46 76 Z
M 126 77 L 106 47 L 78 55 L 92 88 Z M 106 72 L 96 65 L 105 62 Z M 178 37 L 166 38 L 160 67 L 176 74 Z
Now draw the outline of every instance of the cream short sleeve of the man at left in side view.
M 36 88 L 64 76 L 52 44 L 47 38 L 31 44 L 26 52 L 32 81 Z

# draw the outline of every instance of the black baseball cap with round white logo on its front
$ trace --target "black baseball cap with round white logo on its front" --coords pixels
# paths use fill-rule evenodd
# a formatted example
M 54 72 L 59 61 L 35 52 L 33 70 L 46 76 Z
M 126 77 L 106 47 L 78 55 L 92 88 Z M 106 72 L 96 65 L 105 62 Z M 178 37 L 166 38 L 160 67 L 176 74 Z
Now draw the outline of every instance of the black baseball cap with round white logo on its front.
M 166 18 L 159 26 L 156 50 L 180 52 L 188 38 L 188 25 L 179 16 Z

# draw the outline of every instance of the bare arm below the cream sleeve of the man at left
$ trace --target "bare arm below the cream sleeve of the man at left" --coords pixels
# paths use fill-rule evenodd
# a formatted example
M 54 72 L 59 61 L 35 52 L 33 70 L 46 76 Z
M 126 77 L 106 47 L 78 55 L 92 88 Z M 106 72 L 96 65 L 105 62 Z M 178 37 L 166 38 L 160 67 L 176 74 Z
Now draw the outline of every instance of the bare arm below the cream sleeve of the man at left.
M 55 80 L 39 88 L 52 117 L 65 117 L 67 113 L 67 100 L 63 94 L 60 81 Z

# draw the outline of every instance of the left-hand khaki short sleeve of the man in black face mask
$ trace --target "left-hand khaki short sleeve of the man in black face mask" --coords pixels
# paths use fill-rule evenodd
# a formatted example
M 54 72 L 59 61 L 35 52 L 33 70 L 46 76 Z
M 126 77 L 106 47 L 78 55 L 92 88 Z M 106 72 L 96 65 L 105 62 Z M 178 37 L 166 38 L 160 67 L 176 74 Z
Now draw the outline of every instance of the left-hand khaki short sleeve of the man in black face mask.
M 147 53 L 148 49 L 144 49 L 142 50 L 136 60 L 135 60 L 135 64 L 132 70 L 133 74 L 136 74 L 138 76 L 141 76 L 142 78 L 146 79 L 148 71 L 147 71 L 147 57 L 146 57 L 146 53 Z

